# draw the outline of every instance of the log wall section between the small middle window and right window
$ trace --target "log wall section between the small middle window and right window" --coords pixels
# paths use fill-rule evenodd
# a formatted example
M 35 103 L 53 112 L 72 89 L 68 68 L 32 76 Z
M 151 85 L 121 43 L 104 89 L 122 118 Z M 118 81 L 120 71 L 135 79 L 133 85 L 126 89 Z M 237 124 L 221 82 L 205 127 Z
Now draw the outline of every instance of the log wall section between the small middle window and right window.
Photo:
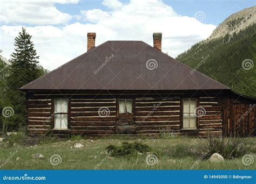
M 178 133 L 180 98 L 136 98 L 136 133 Z

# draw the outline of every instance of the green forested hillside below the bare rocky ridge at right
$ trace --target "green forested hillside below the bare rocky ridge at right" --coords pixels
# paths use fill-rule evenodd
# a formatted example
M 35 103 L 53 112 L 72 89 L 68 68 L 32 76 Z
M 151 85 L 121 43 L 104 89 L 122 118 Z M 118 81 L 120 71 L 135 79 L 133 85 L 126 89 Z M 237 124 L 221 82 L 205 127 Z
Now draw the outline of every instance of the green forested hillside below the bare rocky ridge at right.
M 256 24 L 201 41 L 176 59 L 237 93 L 256 97 Z

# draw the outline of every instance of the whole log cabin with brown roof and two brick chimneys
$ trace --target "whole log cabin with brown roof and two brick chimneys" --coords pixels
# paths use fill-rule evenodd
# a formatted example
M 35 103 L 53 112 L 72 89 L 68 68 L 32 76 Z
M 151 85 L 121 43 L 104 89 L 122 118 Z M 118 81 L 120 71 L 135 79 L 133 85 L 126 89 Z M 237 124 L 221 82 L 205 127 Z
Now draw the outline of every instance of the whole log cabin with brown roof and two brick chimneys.
M 143 41 L 106 41 L 26 84 L 31 135 L 255 136 L 256 99 Z

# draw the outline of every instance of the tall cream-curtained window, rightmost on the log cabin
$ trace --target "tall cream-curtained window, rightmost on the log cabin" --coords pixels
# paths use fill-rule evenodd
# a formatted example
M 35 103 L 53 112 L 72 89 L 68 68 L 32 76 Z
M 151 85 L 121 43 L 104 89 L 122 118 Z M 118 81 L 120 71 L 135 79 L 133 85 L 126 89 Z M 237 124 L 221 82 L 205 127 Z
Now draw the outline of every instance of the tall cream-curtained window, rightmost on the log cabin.
M 183 128 L 184 129 L 196 129 L 197 117 L 196 117 L 196 98 L 184 98 L 183 100 Z

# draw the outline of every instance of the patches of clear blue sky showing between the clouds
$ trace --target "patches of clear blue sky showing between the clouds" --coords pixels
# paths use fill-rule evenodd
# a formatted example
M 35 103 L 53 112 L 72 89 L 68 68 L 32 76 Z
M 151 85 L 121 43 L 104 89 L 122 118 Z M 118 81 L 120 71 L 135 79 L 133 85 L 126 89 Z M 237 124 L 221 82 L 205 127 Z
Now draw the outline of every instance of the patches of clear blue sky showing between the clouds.
M 138 0 L 139 1 L 139 0 Z M 127 3 L 129 1 L 121 1 Z M 196 1 L 196 0 L 181 0 L 181 1 L 170 1 L 164 0 L 165 4 L 172 6 L 172 8 L 179 14 L 183 16 L 193 17 L 195 12 L 203 11 L 206 14 L 206 19 L 204 23 L 213 24 L 218 26 L 225 18 L 230 16 L 232 13 L 238 12 L 242 9 L 249 8 L 256 5 L 254 0 L 213 0 L 213 1 Z M 56 4 L 56 8 L 71 15 L 79 14 L 80 10 L 90 10 L 90 9 L 102 9 L 107 10 L 107 8 L 102 4 L 102 1 L 88 1 L 82 0 L 78 4 Z M 76 22 L 76 20 L 72 20 Z

